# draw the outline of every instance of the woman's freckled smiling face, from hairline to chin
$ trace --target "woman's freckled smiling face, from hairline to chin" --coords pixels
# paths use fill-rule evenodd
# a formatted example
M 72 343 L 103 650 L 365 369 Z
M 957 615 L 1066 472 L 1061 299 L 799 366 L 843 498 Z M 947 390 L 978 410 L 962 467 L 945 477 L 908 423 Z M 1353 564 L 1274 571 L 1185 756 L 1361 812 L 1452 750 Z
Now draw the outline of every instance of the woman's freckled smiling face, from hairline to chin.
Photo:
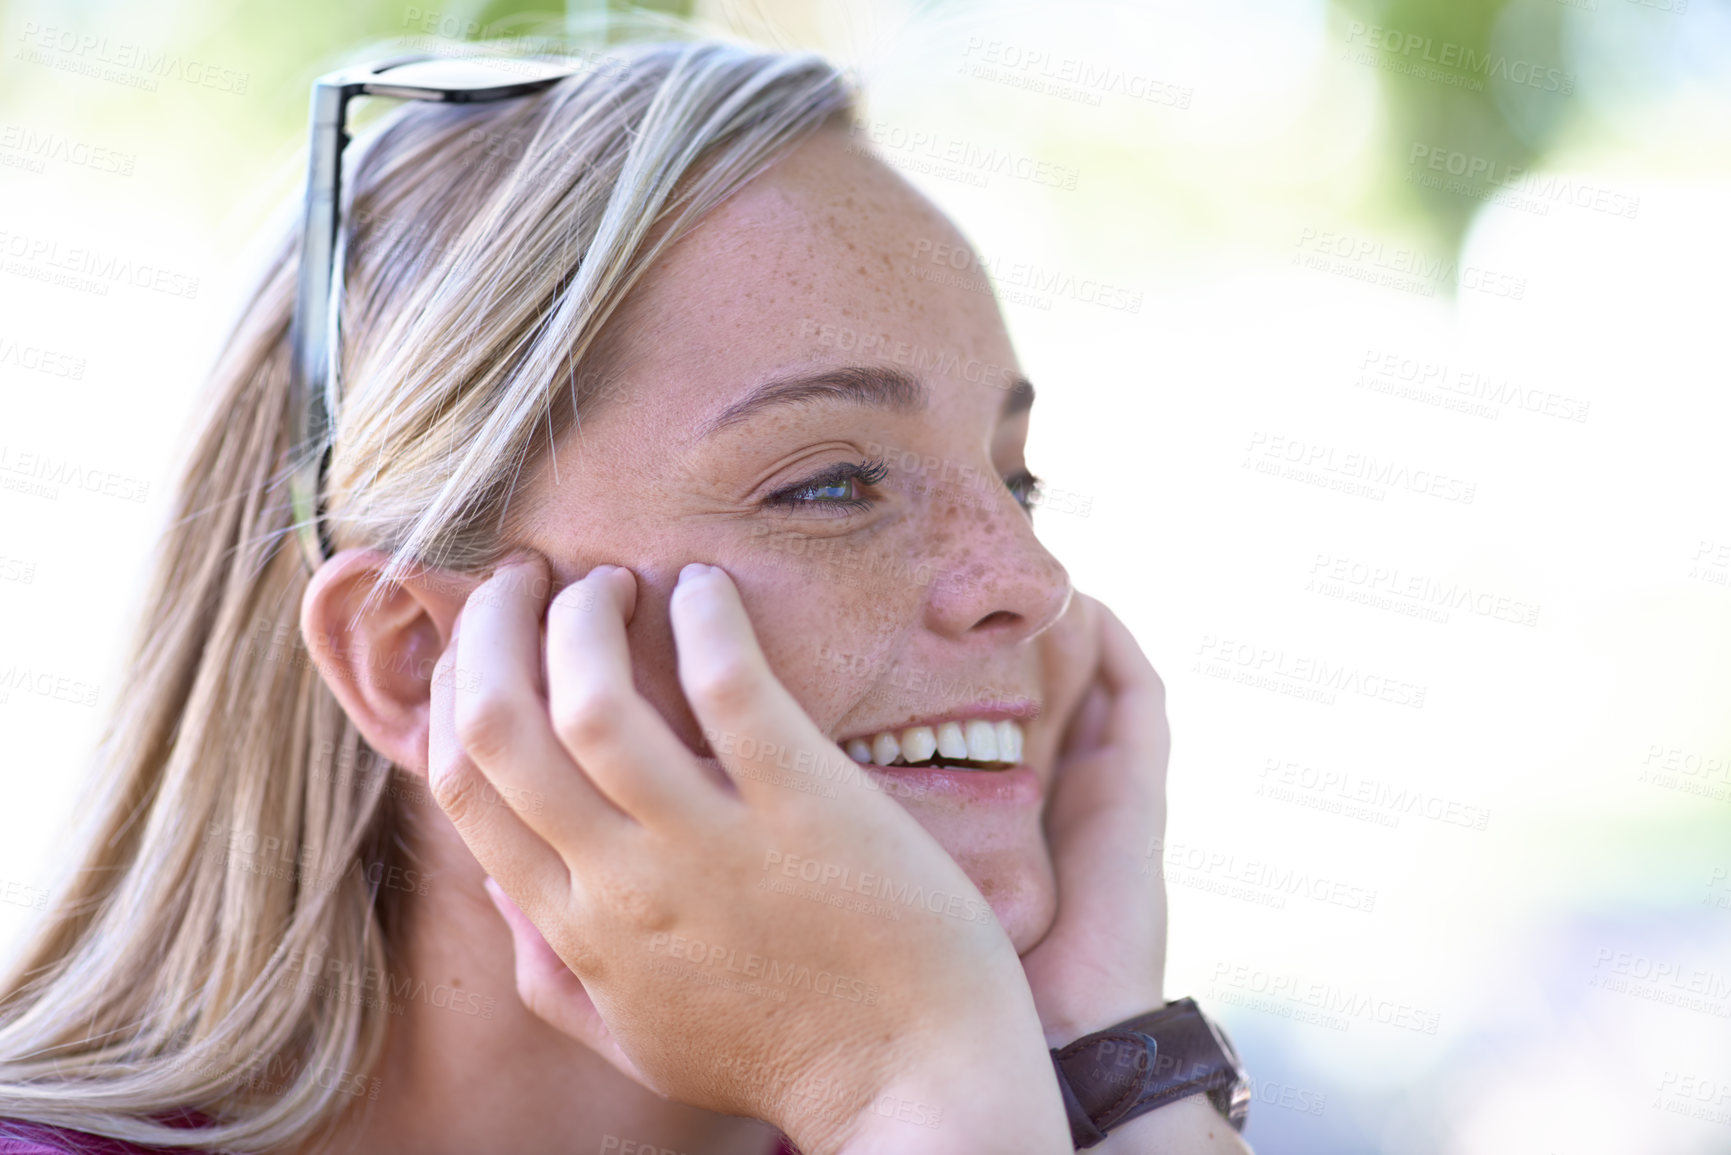
M 950 265 L 961 244 L 845 132 L 817 133 L 627 300 L 524 539 L 559 585 L 604 561 L 637 573 L 637 686 L 694 750 L 666 615 L 689 561 L 732 575 L 838 743 L 911 736 L 914 755 L 919 726 L 1020 726 L 1016 769 L 891 771 L 891 795 L 1026 951 L 1054 911 L 1040 812 L 1087 642 L 1021 500 L 1032 391 L 980 274 Z

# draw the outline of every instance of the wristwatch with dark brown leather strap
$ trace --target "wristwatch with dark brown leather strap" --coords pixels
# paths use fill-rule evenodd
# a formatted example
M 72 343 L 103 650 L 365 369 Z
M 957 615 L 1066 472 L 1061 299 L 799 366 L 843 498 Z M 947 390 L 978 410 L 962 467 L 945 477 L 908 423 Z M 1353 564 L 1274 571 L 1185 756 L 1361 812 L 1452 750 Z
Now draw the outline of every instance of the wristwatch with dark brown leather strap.
M 1077 1150 L 1191 1094 L 1207 1094 L 1234 1131 L 1245 1129 L 1250 1110 L 1250 1075 L 1231 1039 L 1194 999 L 1082 1036 L 1052 1051 L 1052 1067 Z

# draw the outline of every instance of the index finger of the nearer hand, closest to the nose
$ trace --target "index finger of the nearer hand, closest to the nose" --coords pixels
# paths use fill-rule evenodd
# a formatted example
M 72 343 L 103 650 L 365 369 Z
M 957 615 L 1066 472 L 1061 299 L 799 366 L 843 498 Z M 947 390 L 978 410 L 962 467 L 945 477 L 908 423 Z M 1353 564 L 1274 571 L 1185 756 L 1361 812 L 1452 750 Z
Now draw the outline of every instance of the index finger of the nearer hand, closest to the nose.
M 727 573 L 685 566 L 668 604 L 679 684 L 715 757 L 750 802 L 862 797 L 872 783 L 775 681 Z

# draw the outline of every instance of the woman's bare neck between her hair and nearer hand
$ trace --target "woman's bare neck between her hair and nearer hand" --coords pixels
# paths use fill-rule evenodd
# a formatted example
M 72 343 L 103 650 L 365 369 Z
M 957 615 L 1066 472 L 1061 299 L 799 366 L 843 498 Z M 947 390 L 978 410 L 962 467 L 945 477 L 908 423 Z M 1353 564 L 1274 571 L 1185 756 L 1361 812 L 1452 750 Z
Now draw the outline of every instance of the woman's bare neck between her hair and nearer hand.
M 428 894 L 403 895 L 403 951 L 384 992 L 402 1013 L 389 1016 L 377 1100 L 322 1152 L 775 1150 L 767 1126 L 670 1103 L 530 1013 L 481 866 L 429 800 L 403 805 Z

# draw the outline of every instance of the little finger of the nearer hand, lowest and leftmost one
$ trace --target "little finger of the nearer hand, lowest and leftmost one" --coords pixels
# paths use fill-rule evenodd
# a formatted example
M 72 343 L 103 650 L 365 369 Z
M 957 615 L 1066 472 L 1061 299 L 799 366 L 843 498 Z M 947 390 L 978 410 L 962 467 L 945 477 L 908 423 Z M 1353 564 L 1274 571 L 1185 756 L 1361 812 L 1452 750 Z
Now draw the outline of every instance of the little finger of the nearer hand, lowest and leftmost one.
M 519 894 L 564 899 L 571 888 L 564 861 L 505 805 L 457 739 L 455 696 L 460 679 L 455 670 L 454 639 L 433 667 L 428 719 L 428 784 L 433 798 L 488 874 L 509 880 Z M 528 800 L 531 807 L 537 802 Z

